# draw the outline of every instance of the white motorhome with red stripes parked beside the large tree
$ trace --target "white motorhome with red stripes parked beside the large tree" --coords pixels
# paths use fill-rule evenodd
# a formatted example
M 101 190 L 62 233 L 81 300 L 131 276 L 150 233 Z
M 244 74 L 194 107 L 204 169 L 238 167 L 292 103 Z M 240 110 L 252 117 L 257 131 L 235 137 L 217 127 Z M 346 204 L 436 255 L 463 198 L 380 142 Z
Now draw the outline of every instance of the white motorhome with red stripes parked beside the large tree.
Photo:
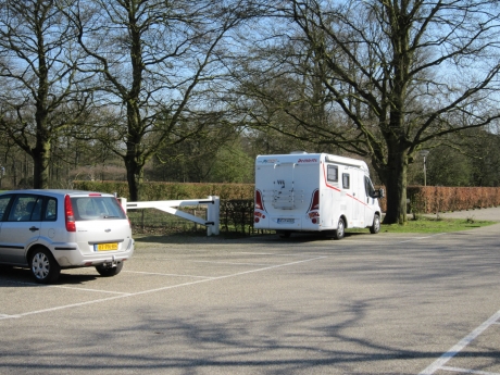
M 255 159 L 253 226 L 282 237 L 293 232 L 380 229 L 382 210 L 365 162 L 327 153 L 292 152 Z

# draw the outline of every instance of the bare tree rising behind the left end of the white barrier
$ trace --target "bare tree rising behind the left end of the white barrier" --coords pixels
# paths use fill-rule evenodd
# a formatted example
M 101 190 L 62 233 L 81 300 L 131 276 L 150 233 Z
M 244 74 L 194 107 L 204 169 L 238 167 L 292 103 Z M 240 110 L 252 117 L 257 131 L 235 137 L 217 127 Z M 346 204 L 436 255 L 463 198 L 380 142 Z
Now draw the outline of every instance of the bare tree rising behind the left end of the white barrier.
M 110 148 L 125 162 L 132 200 L 140 199 L 143 167 L 158 150 L 196 136 L 205 122 L 190 118 L 216 110 L 210 96 L 225 73 L 223 42 L 255 14 L 243 0 L 86 0 L 73 8 L 102 104 L 115 107 L 124 148 Z M 182 126 L 187 122 L 198 126 Z

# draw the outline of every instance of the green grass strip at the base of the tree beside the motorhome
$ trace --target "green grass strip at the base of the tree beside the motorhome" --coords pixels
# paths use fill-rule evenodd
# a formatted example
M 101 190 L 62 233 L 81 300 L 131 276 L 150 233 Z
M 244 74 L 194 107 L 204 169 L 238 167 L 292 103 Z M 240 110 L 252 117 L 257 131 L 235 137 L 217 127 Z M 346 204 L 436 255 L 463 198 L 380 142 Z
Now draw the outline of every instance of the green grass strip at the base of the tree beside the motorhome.
M 483 226 L 493 225 L 497 222 L 478 221 L 471 218 L 433 218 L 421 217 L 409 220 L 405 225 L 383 224 L 380 233 L 450 233 L 470 230 Z M 346 232 L 364 232 L 365 229 L 347 229 Z

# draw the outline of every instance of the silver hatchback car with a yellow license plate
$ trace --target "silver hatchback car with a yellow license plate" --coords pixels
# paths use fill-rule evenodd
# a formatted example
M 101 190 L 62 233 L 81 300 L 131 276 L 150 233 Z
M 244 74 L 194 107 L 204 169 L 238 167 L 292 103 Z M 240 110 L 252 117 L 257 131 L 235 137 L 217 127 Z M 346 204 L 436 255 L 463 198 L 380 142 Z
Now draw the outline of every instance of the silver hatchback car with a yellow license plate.
M 38 283 L 61 268 L 95 266 L 114 276 L 134 252 L 130 223 L 110 193 L 12 190 L 0 193 L 0 263 L 29 267 Z

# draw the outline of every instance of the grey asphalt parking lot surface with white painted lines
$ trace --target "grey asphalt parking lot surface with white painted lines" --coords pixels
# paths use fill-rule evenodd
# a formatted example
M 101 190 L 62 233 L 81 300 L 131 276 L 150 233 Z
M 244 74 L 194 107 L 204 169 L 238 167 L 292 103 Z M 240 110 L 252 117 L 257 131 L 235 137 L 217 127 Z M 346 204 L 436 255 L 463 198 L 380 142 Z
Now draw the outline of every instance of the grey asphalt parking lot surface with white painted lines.
M 150 237 L 53 286 L 0 267 L 0 374 L 500 375 L 499 234 Z

